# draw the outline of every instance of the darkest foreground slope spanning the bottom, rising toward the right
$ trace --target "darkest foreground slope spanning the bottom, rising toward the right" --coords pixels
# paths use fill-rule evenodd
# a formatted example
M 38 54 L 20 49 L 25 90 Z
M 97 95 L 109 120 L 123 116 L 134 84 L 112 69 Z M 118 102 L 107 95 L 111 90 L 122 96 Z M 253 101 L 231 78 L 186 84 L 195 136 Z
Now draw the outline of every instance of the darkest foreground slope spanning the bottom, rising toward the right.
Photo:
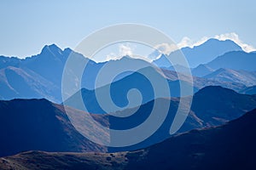
M 256 110 L 224 126 L 192 130 L 144 150 L 104 153 L 30 151 L 0 158 L 1 169 L 253 169 Z M 55 161 L 53 161 L 55 160 Z

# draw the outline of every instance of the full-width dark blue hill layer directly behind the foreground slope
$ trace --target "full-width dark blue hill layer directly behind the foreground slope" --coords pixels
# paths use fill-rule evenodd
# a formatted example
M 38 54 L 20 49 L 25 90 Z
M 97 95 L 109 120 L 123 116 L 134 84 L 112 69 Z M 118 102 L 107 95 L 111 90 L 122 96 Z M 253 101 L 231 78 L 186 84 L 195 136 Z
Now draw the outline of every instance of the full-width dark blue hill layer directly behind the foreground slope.
M 158 99 L 158 102 L 168 102 Z M 9 156 L 20 151 L 102 151 L 137 150 L 163 141 L 170 137 L 170 127 L 177 111 L 179 99 L 173 98 L 165 122 L 148 139 L 140 144 L 125 148 L 106 148 L 84 138 L 68 119 L 62 105 L 46 99 L 14 99 L 0 101 L 1 156 Z M 91 115 L 97 122 L 112 129 L 137 127 L 145 121 L 152 110 L 154 101 L 141 105 L 135 114 L 127 118 L 109 115 Z M 178 133 L 201 127 L 224 124 L 256 108 L 256 96 L 237 94 L 221 87 L 207 87 L 195 94 L 191 111 Z M 119 114 L 132 110 L 119 111 Z M 68 109 L 73 115 L 83 115 L 83 111 Z M 161 114 L 161 113 L 159 113 Z M 83 122 L 85 125 L 87 122 Z M 91 131 L 94 133 L 94 131 Z M 111 135 L 110 135 L 111 139 Z

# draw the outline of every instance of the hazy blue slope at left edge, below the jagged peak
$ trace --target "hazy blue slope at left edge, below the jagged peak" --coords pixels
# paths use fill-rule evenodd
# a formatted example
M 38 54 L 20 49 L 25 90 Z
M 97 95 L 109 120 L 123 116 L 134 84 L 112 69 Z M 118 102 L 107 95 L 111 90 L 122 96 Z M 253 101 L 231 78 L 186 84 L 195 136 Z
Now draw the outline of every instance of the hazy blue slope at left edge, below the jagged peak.
M 8 66 L 0 70 L 1 99 L 15 98 L 47 98 L 59 100 L 57 98 L 59 88 L 54 83 L 49 82 L 38 73 Z

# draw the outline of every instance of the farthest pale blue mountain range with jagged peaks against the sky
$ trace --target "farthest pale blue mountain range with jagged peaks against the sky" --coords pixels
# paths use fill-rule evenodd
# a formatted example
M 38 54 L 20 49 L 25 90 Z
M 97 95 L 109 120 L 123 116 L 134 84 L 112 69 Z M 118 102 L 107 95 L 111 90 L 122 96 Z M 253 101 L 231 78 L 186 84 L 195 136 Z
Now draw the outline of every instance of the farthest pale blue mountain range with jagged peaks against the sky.
M 207 86 L 203 85 L 206 84 L 206 82 L 208 85 L 220 85 L 225 88 L 234 89 L 237 92 L 248 86 L 255 85 L 255 72 L 252 71 L 256 71 L 253 65 L 255 63 L 256 54 L 247 54 L 241 51 L 241 48 L 235 42 L 230 40 L 219 41 L 217 39 L 210 39 L 195 48 L 182 48 L 182 51 L 189 62 L 194 63 L 190 65 L 191 67 L 198 65 L 198 67 L 192 70 L 195 76 L 194 79 L 197 80 L 194 87 L 195 92 Z M 81 59 L 86 59 L 83 55 L 73 52 L 70 48 L 61 50 L 61 48 L 58 48 L 55 44 L 45 46 L 40 54 L 26 59 L 1 56 L 0 89 L 3 93 L 0 94 L 0 99 L 46 98 L 61 103 L 62 71 L 67 57 L 71 53 L 78 55 Z M 175 54 L 175 52 L 172 54 Z M 108 62 L 113 62 L 113 65 L 118 65 L 118 62 L 125 62 L 125 59 L 111 60 Z M 134 60 L 135 63 L 137 62 L 137 59 L 132 60 Z M 159 63 L 160 60 L 161 58 L 155 60 L 154 63 Z M 84 71 L 82 88 L 93 90 L 97 72 L 106 62 L 96 63 L 90 59 L 88 61 L 90 64 Z M 206 64 L 200 65 L 202 63 Z M 165 67 L 165 65 L 159 65 L 160 67 Z M 165 67 L 165 69 L 172 71 L 172 68 Z M 216 72 L 213 73 L 214 71 Z M 219 73 L 220 71 L 222 73 Z M 133 75 L 123 74 L 120 75 L 117 80 L 119 80 L 119 82 L 124 81 L 124 84 L 125 79 L 127 79 L 125 77 L 129 76 L 131 77 L 128 79 L 132 79 Z M 201 79 L 196 77 L 201 77 Z M 243 79 L 241 79 L 241 77 L 243 77 Z M 169 79 L 171 80 L 171 78 Z M 211 83 L 209 84 L 209 82 Z M 173 89 L 177 89 L 173 91 L 178 91 L 177 82 L 171 80 L 170 83 L 172 87 L 174 87 Z M 179 94 L 174 93 L 173 96 L 179 96 Z M 147 101 L 148 100 L 150 99 L 147 99 Z

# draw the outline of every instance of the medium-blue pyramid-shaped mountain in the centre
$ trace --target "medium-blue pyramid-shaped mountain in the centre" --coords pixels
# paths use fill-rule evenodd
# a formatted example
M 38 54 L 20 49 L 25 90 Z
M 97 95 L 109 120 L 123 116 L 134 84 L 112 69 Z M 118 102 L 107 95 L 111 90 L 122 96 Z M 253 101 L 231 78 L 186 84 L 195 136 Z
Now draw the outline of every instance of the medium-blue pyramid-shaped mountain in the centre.
M 113 82 L 101 88 L 96 88 L 95 90 L 88 90 L 86 88 L 82 88 L 81 90 L 79 90 L 79 92 L 77 92 L 76 94 L 73 94 L 70 98 L 68 98 L 64 102 L 64 104 L 70 105 L 79 110 L 83 110 L 85 105 L 87 111 L 89 111 L 90 113 L 106 113 L 106 111 L 104 111 L 101 105 L 98 103 L 98 100 L 96 98 L 96 93 L 102 93 L 102 94 L 108 93 L 111 95 L 111 99 L 113 100 L 114 104 L 118 105 L 121 108 L 120 110 L 123 110 L 122 108 L 126 107 L 126 105 L 128 105 L 129 102 L 131 102 L 132 100 L 136 100 L 135 98 L 137 98 L 137 95 L 131 95 L 129 99 L 130 101 L 127 99 L 127 94 L 129 93 L 129 90 L 131 90 L 132 88 L 136 88 L 137 90 L 139 90 L 143 99 L 142 99 L 142 103 L 129 105 L 129 107 L 131 108 L 131 107 L 136 107 L 137 105 L 145 104 L 150 100 L 157 98 L 154 96 L 154 90 L 155 90 L 154 88 L 161 88 L 160 87 L 161 84 L 158 87 L 153 87 L 152 82 L 150 82 L 148 78 L 143 76 L 143 74 L 141 74 L 140 72 L 147 72 L 148 75 L 151 75 L 151 77 L 153 77 L 154 83 L 159 83 L 159 82 L 155 82 L 155 80 L 166 81 L 172 97 L 178 97 L 181 95 L 179 90 L 180 83 L 182 83 L 184 86 L 188 88 L 192 88 L 195 92 L 197 92 L 199 89 L 199 88 L 194 88 L 192 84 L 190 84 L 189 82 L 186 82 L 187 77 L 183 77 L 184 80 L 178 81 L 177 74 L 174 75 L 173 73 L 173 77 L 171 79 L 171 78 L 165 77 L 161 73 L 161 71 L 154 70 L 153 67 L 146 67 L 137 72 L 133 72 L 131 73 L 131 75 L 124 77 L 116 82 Z M 186 96 L 191 94 L 189 94 L 188 92 L 188 93 L 184 93 L 184 95 Z M 81 96 L 83 101 L 81 101 Z M 101 95 L 100 97 L 104 97 L 104 96 Z M 168 96 L 168 94 L 163 94 L 158 98 L 168 98 L 168 97 L 170 97 Z

